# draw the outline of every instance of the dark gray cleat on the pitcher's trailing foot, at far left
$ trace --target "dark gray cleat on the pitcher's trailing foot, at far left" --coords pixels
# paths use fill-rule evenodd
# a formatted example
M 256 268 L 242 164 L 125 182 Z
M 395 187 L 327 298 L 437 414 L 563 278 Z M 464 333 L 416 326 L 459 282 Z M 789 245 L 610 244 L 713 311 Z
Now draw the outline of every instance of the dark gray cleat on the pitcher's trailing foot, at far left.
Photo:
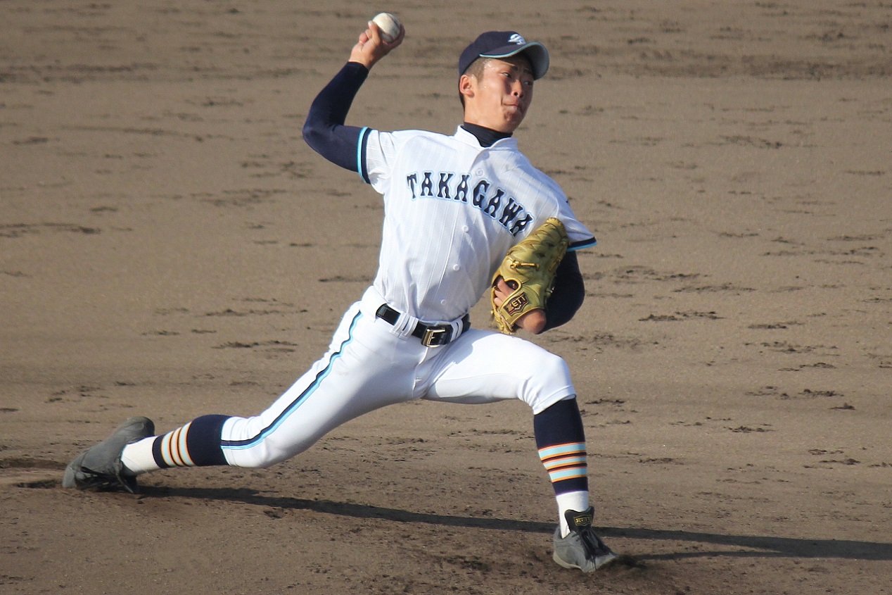
M 120 455 L 131 442 L 153 436 L 155 424 L 148 417 L 130 417 L 98 444 L 74 457 L 62 475 L 63 488 L 120 490 L 136 494 L 136 476 L 127 473 Z

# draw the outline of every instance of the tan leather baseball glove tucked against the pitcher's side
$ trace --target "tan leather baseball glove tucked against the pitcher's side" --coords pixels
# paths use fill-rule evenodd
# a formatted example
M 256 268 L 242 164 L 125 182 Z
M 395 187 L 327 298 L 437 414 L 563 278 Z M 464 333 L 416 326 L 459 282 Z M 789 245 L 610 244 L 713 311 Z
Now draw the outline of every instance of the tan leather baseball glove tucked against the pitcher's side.
M 492 275 L 492 286 L 494 288 L 502 277 L 513 291 L 501 306 L 496 306 L 495 289 L 490 291 L 492 318 L 500 331 L 512 334 L 521 316 L 545 309 L 554 289 L 555 272 L 569 245 L 564 224 L 550 217 L 538 230 L 508 250 L 499 269 Z

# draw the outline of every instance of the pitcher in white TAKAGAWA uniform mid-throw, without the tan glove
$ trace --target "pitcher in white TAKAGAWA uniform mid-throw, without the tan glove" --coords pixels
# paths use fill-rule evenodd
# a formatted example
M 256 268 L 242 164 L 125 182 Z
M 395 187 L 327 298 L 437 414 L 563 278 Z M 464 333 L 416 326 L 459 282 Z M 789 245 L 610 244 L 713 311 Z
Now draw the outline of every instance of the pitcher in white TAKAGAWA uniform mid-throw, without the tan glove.
M 554 559 L 593 572 L 616 555 L 591 523 L 582 418 L 566 362 L 513 334 L 471 328 L 468 311 L 514 288 L 492 276 L 508 248 L 549 218 L 566 229 L 546 308 L 516 326 L 538 333 L 569 321 L 584 288 L 575 250 L 595 239 L 554 180 L 533 168 L 512 134 L 533 100 L 549 54 L 514 31 L 489 31 L 458 60 L 464 121 L 455 134 L 385 132 L 344 124 L 370 69 L 405 36 L 384 42 L 374 23 L 310 107 L 303 136 L 327 160 L 383 195 L 379 269 L 307 373 L 252 417 L 202 415 L 155 435 L 133 417 L 75 457 L 63 485 L 136 491 L 136 476 L 194 465 L 267 467 L 310 448 L 326 432 L 374 409 L 415 399 L 491 403 L 520 399 L 533 410 L 542 464 L 558 504 Z

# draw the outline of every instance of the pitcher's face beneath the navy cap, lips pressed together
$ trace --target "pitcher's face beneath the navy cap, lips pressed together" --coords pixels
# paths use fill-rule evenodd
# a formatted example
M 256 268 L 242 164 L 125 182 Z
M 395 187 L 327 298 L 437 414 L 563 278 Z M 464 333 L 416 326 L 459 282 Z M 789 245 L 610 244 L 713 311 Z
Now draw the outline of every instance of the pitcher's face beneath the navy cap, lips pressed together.
M 514 132 L 533 101 L 533 69 L 523 55 L 491 59 L 479 80 L 462 77 L 465 121 L 500 132 Z

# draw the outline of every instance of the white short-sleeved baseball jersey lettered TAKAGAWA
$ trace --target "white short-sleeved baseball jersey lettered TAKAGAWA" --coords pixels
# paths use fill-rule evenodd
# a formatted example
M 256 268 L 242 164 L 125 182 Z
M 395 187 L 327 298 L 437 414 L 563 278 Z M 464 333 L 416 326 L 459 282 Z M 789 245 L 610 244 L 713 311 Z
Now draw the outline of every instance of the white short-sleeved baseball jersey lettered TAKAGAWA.
M 514 138 L 481 147 L 461 127 L 451 137 L 365 133 L 359 171 L 384 195 L 374 286 L 401 312 L 427 322 L 467 314 L 508 248 L 549 217 L 564 223 L 571 249 L 595 243 L 558 184 L 533 167 Z M 438 169 L 425 169 L 428 163 Z

